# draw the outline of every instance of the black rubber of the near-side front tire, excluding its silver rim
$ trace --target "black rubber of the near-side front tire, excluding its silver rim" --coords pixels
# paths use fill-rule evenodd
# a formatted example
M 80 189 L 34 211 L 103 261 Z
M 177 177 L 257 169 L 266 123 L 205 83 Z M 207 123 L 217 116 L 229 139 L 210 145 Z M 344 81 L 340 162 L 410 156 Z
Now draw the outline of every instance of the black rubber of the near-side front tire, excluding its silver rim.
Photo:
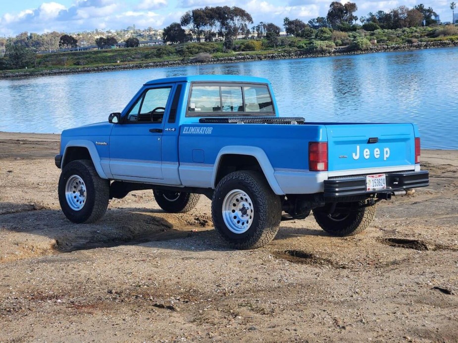
M 80 210 L 72 209 L 65 196 L 67 181 L 73 175 L 79 176 L 87 189 L 86 201 Z M 63 167 L 58 185 L 59 203 L 62 212 L 73 223 L 93 223 L 102 218 L 108 207 L 109 194 L 109 181 L 97 174 L 92 161 L 75 160 Z

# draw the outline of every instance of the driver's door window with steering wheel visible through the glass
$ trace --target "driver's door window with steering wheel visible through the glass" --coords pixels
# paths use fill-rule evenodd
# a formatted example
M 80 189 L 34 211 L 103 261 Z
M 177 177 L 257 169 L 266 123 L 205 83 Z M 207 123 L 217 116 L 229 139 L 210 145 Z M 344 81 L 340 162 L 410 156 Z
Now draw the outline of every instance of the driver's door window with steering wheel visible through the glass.
M 171 87 L 164 87 L 146 91 L 127 114 L 127 122 L 161 123 L 171 89 Z

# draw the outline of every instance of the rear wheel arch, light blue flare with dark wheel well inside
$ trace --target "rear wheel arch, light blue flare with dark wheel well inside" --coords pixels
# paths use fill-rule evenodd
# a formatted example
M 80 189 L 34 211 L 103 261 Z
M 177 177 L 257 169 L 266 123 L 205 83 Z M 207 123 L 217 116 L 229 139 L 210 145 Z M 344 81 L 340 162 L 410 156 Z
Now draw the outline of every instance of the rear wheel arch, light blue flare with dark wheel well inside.
M 234 164 L 234 158 L 237 157 L 240 159 L 240 163 Z M 285 195 L 283 190 L 278 185 L 277 180 L 275 179 L 274 169 L 270 164 L 269 158 L 265 154 L 264 150 L 260 147 L 249 147 L 249 146 L 227 146 L 223 147 L 216 156 L 213 174 L 212 174 L 212 184 L 211 187 L 215 189 L 219 180 L 221 180 L 227 172 L 225 172 L 225 167 L 228 166 L 227 163 L 232 167 L 237 167 L 247 165 L 247 163 L 256 163 L 253 169 L 250 170 L 259 170 L 270 188 L 276 195 Z M 227 168 L 226 168 L 227 170 Z

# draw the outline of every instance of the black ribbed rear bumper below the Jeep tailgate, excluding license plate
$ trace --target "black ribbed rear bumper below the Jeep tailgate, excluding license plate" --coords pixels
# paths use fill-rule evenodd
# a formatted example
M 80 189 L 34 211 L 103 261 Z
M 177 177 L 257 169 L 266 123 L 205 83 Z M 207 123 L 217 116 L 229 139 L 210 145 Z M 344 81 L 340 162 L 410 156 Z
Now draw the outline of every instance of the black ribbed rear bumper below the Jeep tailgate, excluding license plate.
M 429 185 L 429 172 L 407 171 L 386 173 L 387 189 L 381 191 L 366 191 L 366 176 L 339 177 L 324 181 L 324 197 L 362 196 L 378 193 L 392 193 L 409 188 L 426 187 Z

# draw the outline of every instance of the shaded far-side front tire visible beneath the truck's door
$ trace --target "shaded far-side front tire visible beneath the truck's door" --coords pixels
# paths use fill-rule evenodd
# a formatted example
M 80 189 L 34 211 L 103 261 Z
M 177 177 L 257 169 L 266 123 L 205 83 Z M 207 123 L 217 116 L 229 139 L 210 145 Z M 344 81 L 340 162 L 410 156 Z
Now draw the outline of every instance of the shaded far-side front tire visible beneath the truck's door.
M 168 213 L 185 213 L 196 207 L 201 195 L 185 192 L 153 191 L 160 208 Z M 173 200 L 172 200 L 173 199 Z

